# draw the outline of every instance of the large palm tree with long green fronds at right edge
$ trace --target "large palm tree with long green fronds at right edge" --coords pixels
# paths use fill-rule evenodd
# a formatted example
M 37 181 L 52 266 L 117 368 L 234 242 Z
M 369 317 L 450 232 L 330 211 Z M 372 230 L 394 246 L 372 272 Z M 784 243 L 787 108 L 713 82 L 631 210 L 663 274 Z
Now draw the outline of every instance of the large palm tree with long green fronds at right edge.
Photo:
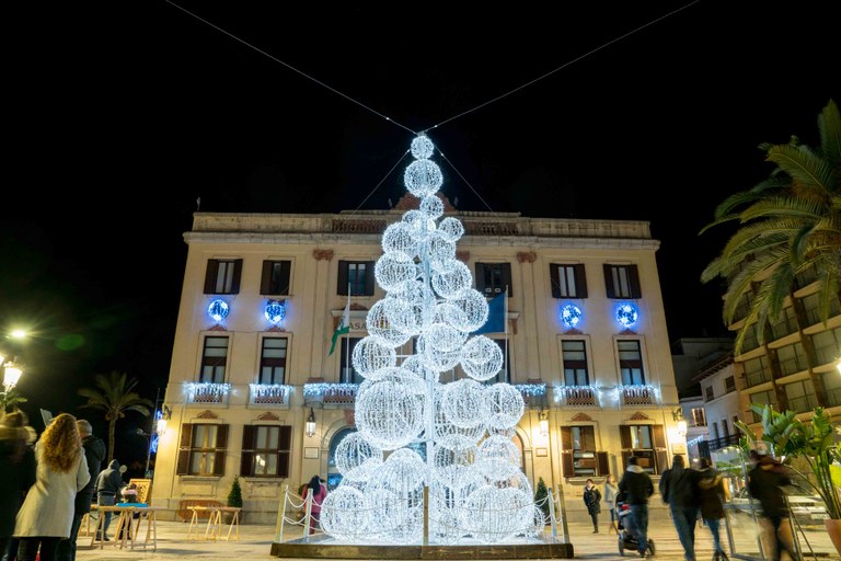
M 702 283 L 719 276 L 727 280 L 723 316 L 728 325 L 742 298 L 753 297 L 736 336 L 737 353 L 750 329 L 764 342 L 768 321 L 780 317 L 799 273 L 810 268 L 816 273 L 825 324 L 839 300 L 841 116 L 834 101 L 818 116 L 818 129 L 817 148 L 794 136 L 785 145 L 760 145 L 765 160 L 776 164 L 771 176 L 727 197 L 716 208 L 715 220 L 700 232 L 728 221 L 740 225 L 701 274 Z

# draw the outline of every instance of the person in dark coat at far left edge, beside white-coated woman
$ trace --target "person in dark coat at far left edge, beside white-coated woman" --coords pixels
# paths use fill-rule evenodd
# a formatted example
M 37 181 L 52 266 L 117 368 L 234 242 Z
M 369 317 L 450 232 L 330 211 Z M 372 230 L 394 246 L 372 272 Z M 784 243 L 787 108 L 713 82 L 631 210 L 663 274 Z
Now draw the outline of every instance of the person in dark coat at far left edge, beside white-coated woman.
M 14 411 L 0 419 L 0 558 L 15 559 L 14 518 L 26 491 L 35 483 L 35 453 L 30 446 L 26 414 Z M 11 548 L 14 547 L 14 554 Z

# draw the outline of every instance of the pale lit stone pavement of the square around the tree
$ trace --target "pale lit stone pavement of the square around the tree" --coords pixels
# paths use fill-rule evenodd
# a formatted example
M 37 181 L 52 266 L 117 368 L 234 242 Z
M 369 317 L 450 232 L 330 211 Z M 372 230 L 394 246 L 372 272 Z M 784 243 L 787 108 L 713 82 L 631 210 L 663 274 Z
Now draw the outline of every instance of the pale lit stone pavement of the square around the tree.
M 571 520 L 569 541 L 573 543 L 576 559 L 621 559 L 619 556 L 617 536 L 609 530 L 608 523 L 602 524 L 599 534 L 592 534 L 589 520 Z M 240 540 L 231 541 L 196 541 L 187 539 L 188 525 L 182 522 L 158 523 L 158 548 L 119 549 L 114 541 L 105 543 L 104 549 L 90 547 L 90 537 L 80 537 L 78 541 L 78 561 L 124 561 L 124 560 L 174 560 L 189 559 L 189 561 L 204 560 L 265 560 L 272 561 L 278 558 L 272 557 L 270 548 L 274 540 L 274 525 L 243 524 L 240 526 Z M 296 531 L 297 529 L 297 531 Z M 138 535 L 138 541 L 142 542 L 146 524 L 143 523 Z M 558 529 L 560 531 L 560 529 Z M 204 533 L 203 533 L 204 534 Z M 227 534 L 227 530 L 223 535 Z M 284 541 L 300 538 L 300 528 L 291 531 L 285 530 Z M 825 535 L 826 536 L 826 535 Z M 561 536 L 558 535 L 558 538 Z M 649 537 L 655 539 L 656 559 L 661 561 L 683 560 L 683 550 L 678 541 L 671 520 L 652 520 Z M 699 526 L 695 531 L 695 558 L 699 561 L 711 560 L 713 556 L 712 537 L 706 527 Z M 827 538 L 828 539 L 828 538 Z M 633 559 L 630 552 L 625 559 Z M 808 558 L 809 556 L 805 556 Z M 839 559 L 836 556 L 821 556 L 822 560 Z

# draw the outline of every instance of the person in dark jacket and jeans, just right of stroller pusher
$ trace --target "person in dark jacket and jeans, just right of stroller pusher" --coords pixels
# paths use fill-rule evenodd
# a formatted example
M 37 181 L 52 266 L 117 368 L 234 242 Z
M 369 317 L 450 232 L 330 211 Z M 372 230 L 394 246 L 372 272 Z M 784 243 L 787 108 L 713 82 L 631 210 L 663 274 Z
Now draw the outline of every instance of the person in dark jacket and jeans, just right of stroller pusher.
M 660 476 L 660 495 L 669 505 L 671 522 L 683 546 L 683 558 L 695 561 L 695 524 L 698 522 L 700 473 L 687 467 L 683 456 L 671 460 L 671 468 Z

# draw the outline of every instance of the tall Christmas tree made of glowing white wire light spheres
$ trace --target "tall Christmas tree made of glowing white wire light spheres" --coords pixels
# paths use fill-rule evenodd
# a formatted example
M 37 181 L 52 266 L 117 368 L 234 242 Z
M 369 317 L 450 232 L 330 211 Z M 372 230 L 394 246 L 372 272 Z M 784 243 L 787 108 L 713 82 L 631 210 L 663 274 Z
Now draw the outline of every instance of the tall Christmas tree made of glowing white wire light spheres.
M 464 227 L 453 217 L 437 222 L 443 175 L 429 160 L 434 149 L 425 135 L 412 141 L 416 160 L 403 178 L 419 208 L 383 233 L 373 272 L 387 295 L 369 310 L 368 336 L 354 350 L 365 378 L 356 391 L 358 433 L 336 448 L 343 480 L 321 510 L 325 533 L 341 540 L 419 541 L 425 485 L 430 541 L 495 543 L 544 526 L 511 437 L 523 393 L 545 394 L 545 385 L 482 383 L 504 357 L 488 337 L 470 335 L 487 321 L 488 306 L 456 257 Z M 415 354 L 399 356 L 412 339 Z M 459 365 L 468 378 L 439 382 Z M 304 397 L 323 396 L 327 386 L 336 387 L 306 385 Z M 410 448 L 418 445 L 425 458 Z

